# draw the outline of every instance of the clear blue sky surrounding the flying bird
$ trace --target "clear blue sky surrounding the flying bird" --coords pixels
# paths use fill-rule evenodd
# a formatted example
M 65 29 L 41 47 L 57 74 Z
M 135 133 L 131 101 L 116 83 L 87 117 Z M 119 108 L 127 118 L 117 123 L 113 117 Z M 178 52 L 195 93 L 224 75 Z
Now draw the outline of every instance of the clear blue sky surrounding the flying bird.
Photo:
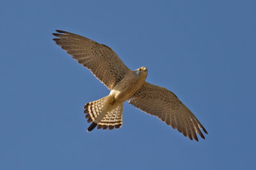
M 254 169 L 255 1 L 2 1 L 0 169 Z M 86 132 L 109 94 L 52 41 L 111 47 L 172 90 L 209 132 L 190 141 L 124 104 L 124 124 Z

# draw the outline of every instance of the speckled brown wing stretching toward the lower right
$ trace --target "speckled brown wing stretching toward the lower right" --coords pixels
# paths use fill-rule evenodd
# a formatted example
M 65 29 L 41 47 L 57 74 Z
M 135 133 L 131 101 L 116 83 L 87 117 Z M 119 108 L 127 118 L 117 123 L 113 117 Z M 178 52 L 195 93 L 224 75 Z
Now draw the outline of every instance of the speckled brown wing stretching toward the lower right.
M 131 97 L 129 104 L 160 118 L 191 140 L 194 138 L 198 141 L 196 133 L 204 138 L 200 128 L 207 134 L 195 115 L 181 103 L 175 94 L 163 87 L 145 82 L 141 89 Z

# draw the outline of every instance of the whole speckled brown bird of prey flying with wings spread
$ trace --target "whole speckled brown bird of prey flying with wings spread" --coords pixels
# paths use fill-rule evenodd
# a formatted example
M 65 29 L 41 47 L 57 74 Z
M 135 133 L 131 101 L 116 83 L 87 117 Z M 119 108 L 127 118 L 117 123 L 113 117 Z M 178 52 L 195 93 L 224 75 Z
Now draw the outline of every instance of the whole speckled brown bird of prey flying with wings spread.
M 91 39 L 56 30 L 53 40 L 63 50 L 88 68 L 110 90 L 108 96 L 84 106 L 87 122 L 92 124 L 87 131 L 97 129 L 118 129 L 123 124 L 123 104 L 129 101 L 141 111 L 156 116 L 189 139 L 198 141 L 196 133 L 205 139 L 204 126 L 173 92 L 152 85 L 146 80 L 148 69 L 140 67 L 131 70 L 106 45 Z

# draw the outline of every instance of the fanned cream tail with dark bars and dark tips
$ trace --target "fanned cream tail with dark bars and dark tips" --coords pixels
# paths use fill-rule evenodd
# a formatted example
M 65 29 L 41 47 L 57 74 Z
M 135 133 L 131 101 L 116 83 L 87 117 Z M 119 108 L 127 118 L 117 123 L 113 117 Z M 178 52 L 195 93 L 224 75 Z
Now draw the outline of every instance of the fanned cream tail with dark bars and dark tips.
M 114 127 L 118 129 L 123 124 L 123 103 L 119 104 L 116 108 L 111 111 L 106 111 L 103 108 L 104 101 L 108 99 L 103 97 L 97 101 L 92 101 L 84 106 L 85 118 L 88 118 L 87 122 L 92 124 L 88 127 L 87 131 L 92 131 L 96 126 L 97 129 L 109 129 L 112 130 Z

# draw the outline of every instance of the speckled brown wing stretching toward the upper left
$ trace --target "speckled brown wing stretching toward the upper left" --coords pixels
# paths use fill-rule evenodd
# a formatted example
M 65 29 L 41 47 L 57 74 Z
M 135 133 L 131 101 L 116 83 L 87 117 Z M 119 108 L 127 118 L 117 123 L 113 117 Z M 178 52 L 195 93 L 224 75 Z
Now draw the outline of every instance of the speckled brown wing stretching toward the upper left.
M 87 67 L 108 89 L 124 78 L 130 69 L 111 48 L 77 34 L 56 30 L 53 40 L 80 64 Z

